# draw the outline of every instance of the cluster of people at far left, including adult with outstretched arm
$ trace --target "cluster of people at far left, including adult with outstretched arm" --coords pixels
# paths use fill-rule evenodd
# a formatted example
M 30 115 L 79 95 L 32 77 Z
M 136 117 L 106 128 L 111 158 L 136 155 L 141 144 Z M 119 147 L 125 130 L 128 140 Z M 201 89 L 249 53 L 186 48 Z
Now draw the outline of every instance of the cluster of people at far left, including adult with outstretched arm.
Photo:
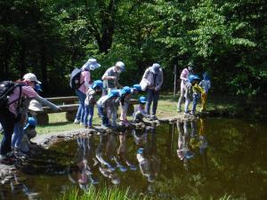
M 0 124 L 4 132 L 0 164 L 13 164 L 17 158 L 26 156 L 32 143 L 30 139 L 36 136 L 36 111 L 42 109 L 42 105 L 60 109 L 38 94 L 40 84 L 32 73 L 25 74 L 22 80 L 0 84 Z

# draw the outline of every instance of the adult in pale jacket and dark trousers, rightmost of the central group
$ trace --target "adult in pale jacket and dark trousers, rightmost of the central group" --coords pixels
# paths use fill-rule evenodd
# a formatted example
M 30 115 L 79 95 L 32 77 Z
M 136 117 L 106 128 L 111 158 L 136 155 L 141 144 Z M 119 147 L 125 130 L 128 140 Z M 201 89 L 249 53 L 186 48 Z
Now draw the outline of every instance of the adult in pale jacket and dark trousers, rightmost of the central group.
M 156 111 L 158 107 L 158 98 L 161 85 L 163 84 L 163 71 L 158 63 L 154 63 L 152 67 L 147 68 L 142 76 L 147 84 L 147 104 L 145 111 L 150 115 L 150 105 L 153 100 L 151 119 L 156 120 Z

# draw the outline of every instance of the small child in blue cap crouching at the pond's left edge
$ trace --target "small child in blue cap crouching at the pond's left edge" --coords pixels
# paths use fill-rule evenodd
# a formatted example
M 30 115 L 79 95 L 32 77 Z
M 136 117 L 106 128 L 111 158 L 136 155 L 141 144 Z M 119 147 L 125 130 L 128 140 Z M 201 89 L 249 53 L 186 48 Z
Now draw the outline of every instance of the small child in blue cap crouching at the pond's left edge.
M 28 123 L 24 127 L 24 134 L 20 142 L 20 151 L 24 154 L 28 154 L 29 146 L 33 142 L 30 140 L 36 137 L 36 119 L 34 117 L 28 117 Z

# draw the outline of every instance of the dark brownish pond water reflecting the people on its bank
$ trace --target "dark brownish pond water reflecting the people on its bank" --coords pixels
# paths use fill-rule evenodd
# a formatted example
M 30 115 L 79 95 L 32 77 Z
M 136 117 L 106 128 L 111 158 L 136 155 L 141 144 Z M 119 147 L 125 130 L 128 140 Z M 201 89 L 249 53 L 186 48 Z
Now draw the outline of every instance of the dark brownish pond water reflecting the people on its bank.
M 205 118 L 57 143 L 2 199 L 52 199 L 73 186 L 129 187 L 153 199 L 267 199 L 267 125 Z

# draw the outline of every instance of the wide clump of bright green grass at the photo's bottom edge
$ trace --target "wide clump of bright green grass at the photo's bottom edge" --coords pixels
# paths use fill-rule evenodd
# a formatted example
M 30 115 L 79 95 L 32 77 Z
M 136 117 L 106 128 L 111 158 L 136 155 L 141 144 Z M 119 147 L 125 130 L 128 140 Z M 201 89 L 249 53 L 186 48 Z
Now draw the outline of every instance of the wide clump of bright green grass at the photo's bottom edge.
M 93 188 L 92 186 L 81 193 L 78 188 L 72 188 L 63 196 L 55 198 L 55 200 L 145 200 L 149 199 L 146 196 L 137 195 L 136 193 L 130 193 L 129 188 L 126 190 L 120 190 L 118 188 L 107 188 L 101 189 Z

